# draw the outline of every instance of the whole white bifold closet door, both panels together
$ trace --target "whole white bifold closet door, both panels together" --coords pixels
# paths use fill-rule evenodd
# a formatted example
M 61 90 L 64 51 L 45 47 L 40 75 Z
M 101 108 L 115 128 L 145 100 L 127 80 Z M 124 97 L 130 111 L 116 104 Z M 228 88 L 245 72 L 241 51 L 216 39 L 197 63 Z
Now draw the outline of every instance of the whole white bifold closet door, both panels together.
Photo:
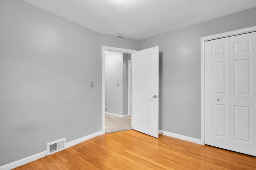
M 205 143 L 256 156 L 256 32 L 204 45 Z

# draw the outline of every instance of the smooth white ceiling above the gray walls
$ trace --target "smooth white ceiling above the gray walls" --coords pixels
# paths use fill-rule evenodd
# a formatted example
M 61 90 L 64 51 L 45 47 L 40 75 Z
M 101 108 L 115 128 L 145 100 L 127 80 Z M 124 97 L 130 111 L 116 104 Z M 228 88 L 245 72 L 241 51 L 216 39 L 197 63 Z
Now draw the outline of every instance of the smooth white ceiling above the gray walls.
M 24 0 L 99 33 L 143 39 L 256 7 L 256 0 Z M 246 20 L 246 18 L 245 18 Z

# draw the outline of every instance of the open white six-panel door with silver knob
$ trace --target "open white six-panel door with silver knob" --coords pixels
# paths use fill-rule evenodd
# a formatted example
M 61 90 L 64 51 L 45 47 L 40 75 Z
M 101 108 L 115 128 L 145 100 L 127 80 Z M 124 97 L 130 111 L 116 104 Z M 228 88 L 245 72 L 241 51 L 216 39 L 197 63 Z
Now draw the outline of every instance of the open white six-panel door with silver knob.
M 158 138 L 158 46 L 132 54 L 132 129 Z

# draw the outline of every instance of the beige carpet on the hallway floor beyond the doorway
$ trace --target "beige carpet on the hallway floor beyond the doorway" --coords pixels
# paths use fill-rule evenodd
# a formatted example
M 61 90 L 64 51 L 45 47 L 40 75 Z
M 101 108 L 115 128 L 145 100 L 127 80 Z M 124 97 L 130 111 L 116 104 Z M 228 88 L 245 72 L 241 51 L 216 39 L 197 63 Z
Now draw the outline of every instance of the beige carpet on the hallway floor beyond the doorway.
M 127 131 L 131 129 L 131 116 L 118 117 L 110 114 L 105 114 L 105 133 Z

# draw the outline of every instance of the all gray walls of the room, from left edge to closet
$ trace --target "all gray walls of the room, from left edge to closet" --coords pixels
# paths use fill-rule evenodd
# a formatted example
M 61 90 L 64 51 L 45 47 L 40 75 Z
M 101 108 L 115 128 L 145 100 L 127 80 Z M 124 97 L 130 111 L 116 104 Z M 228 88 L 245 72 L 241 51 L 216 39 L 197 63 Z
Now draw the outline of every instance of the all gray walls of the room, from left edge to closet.
M 0 166 L 102 129 L 102 45 L 159 45 L 159 128 L 199 139 L 200 37 L 255 26 L 255 16 L 253 8 L 137 41 L 0 0 Z

